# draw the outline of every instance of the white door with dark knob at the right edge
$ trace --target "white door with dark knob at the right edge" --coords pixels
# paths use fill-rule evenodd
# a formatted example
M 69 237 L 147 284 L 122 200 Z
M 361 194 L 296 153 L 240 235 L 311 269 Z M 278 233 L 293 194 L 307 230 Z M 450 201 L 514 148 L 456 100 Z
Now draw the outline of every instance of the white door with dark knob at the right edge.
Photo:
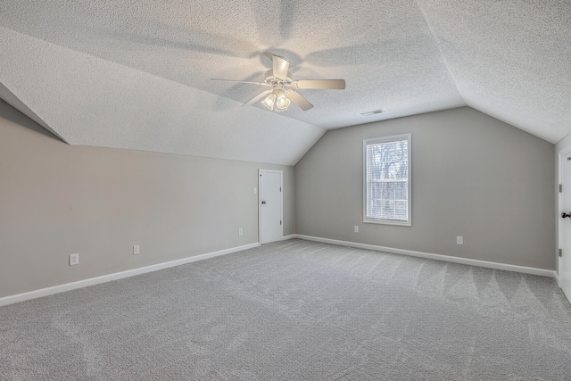
M 567 216 L 567 213 L 571 213 L 571 153 L 561 155 L 559 171 L 559 242 L 562 251 L 559 257 L 559 286 L 571 302 L 571 216 Z

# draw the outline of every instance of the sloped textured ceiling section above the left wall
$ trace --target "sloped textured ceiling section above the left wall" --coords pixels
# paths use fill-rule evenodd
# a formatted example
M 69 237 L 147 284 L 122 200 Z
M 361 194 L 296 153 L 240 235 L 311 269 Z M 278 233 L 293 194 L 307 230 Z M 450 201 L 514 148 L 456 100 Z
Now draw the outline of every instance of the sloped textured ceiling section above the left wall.
M 30 109 L 70 145 L 293 165 L 325 132 L 170 79 L 4 33 L 14 35 L 25 44 L 7 46 L 0 56 L 9 75 L 28 73 L 14 95 L 32 104 Z M 34 57 L 37 52 L 41 65 L 13 60 L 15 54 Z

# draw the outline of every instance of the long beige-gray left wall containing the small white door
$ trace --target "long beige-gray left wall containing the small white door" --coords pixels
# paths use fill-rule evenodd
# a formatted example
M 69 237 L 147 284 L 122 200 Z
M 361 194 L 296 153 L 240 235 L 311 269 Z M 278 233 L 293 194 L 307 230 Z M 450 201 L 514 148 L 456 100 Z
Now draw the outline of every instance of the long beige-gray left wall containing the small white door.
M 294 234 L 293 167 L 70 146 L 0 102 L 0 297 L 256 243 L 259 168 Z

